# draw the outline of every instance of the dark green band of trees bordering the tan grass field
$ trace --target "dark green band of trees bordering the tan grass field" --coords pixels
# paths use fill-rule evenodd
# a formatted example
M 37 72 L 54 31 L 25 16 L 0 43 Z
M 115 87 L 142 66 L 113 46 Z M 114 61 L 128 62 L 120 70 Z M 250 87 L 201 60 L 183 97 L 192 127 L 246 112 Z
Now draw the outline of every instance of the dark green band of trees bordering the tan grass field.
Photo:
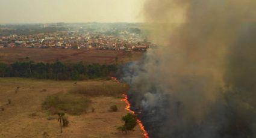
M 0 63 L 0 77 L 33 77 L 53 80 L 84 80 L 108 77 L 117 71 L 117 65 L 35 63 L 33 61 Z

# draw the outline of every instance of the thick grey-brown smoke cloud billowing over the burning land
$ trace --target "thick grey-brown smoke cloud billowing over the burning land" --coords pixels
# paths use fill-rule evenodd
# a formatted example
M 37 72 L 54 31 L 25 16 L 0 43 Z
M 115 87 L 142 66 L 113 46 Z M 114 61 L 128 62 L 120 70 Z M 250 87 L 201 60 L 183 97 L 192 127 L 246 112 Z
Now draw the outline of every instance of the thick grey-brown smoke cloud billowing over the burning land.
M 255 0 L 146 1 L 159 47 L 127 78 L 151 137 L 256 137 L 255 8 Z

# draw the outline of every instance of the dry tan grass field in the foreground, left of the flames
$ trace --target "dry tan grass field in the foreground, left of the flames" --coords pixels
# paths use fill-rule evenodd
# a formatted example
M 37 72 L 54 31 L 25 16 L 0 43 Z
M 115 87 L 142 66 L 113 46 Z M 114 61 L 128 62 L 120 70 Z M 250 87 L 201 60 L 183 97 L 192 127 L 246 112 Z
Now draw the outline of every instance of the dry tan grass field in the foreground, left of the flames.
M 87 87 L 94 92 L 97 86 L 102 95 L 75 94 L 73 89 Z M 17 87 L 19 89 L 16 91 Z M 136 127 L 127 135 L 116 130 L 122 124 L 126 104 L 120 101 L 127 86 L 113 80 L 87 80 L 81 82 L 53 81 L 20 78 L 0 78 L 0 137 L 143 137 L 143 132 Z M 16 91 L 16 92 L 15 92 Z M 100 91 L 97 89 L 96 91 Z M 113 91 L 113 96 L 105 96 L 104 91 Z M 69 115 L 69 126 L 60 133 L 58 115 L 52 115 L 43 109 L 42 103 L 48 95 L 62 92 L 91 100 L 87 113 Z M 7 105 L 8 99 L 11 103 Z M 110 106 L 116 105 L 118 112 L 109 112 Z M 95 108 L 92 112 L 91 108 Z

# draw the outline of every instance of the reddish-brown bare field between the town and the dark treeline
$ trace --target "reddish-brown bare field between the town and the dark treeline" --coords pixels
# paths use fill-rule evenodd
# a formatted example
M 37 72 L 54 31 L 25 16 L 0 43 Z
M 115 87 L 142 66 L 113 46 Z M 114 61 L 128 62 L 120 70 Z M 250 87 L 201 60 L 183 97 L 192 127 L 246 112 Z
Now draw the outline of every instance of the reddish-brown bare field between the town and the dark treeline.
M 111 64 L 116 62 L 131 62 L 142 57 L 142 52 L 123 52 L 112 50 L 72 50 L 72 49 L 0 49 L 0 62 L 11 63 L 25 61 L 26 57 L 36 62 L 84 62 Z

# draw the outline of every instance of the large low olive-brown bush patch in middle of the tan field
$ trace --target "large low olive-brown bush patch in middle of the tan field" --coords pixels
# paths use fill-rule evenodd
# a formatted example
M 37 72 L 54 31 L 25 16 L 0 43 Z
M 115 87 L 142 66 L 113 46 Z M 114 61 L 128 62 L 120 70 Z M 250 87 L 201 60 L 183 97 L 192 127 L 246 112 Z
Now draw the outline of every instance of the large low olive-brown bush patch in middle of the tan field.
M 52 114 L 66 112 L 70 115 L 81 115 L 86 112 L 90 103 L 91 101 L 86 97 L 58 93 L 46 97 L 42 107 Z

